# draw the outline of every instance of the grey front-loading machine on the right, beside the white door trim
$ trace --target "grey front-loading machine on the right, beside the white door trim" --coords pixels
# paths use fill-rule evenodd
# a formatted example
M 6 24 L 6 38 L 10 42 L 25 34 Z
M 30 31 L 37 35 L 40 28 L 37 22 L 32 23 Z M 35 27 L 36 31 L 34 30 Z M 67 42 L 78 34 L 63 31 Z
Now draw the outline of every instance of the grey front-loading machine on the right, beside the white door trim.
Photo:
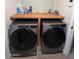
M 64 22 L 60 20 L 42 21 L 42 54 L 62 52 L 65 38 L 66 24 Z

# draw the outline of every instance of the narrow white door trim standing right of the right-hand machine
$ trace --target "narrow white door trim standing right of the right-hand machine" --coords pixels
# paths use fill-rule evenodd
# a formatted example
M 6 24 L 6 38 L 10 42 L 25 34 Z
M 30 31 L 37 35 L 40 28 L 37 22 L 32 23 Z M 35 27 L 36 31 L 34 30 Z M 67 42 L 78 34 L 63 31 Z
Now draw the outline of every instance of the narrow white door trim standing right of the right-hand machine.
M 65 47 L 63 50 L 63 53 L 67 56 L 70 54 L 70 51 L 71 51 L 73 36 L 74 36 L 74 17 L 72 15 L 70 25 L 68 26 L 68 30 L 67 30 Z

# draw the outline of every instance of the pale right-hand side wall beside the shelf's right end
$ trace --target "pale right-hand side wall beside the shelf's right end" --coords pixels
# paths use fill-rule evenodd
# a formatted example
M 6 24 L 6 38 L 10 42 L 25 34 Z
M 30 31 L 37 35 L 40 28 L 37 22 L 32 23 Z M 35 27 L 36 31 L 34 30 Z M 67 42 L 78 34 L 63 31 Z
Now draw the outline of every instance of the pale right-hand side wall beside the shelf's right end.
M 69 0 L 57 0 L 56 2 L 56 9 L 65 17 L 64 22 L 67 25 L 70 24 L 73 11 L 73 8 L 69 6 L 72 6 L 72 3 L 70 3 Z

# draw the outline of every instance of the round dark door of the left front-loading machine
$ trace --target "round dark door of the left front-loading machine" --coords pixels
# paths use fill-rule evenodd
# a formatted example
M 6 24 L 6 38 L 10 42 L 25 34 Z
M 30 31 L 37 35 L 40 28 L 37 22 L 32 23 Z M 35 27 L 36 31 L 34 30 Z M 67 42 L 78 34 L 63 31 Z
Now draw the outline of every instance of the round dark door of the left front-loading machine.
M 27 51 L 32 49 L 37 41 L 36 34 L 26 28 L 14 31 L 10 37 L 11 46 L 17 51 Z

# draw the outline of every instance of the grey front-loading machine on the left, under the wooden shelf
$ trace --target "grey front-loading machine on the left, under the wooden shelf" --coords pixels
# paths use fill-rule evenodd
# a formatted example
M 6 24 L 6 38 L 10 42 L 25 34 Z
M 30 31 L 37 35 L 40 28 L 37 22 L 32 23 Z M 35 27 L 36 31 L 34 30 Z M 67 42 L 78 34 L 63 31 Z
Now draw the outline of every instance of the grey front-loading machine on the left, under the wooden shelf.
M 11 56 L 36 55 L 37 22 L 14 22 L 9 27 L 9 48 Z

